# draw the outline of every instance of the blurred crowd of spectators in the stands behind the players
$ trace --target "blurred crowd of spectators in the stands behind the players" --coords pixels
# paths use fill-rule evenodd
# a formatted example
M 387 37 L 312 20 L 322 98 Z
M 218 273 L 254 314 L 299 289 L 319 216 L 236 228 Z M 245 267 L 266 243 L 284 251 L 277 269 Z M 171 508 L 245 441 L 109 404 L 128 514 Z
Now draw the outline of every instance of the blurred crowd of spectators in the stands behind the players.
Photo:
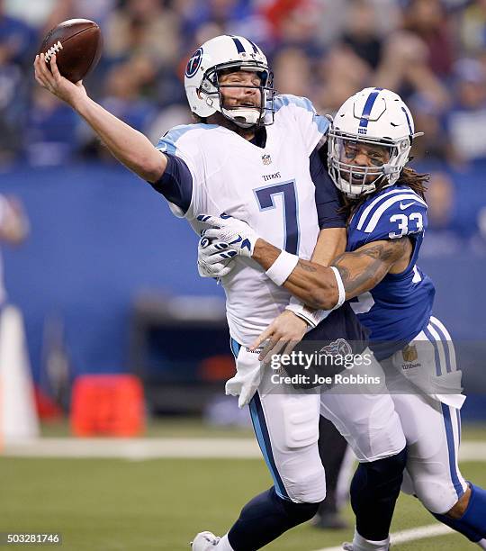
M 0 166 L 110 162 L 75 113 L 32 76 L 42 36 L 75 17 L 103 31 L 89 94 L 154 142 L 191 122 L 186 60 L 221 33 L 256 41 L 276 88 L 310 97 L 321 113 L 336 112 L 364 86 L 391 88 L 425 132 L 413 154 L 437 171 L 430 192 L 441 205 L 437 228 L 463 231 L 447 169 L 486 163 L 486 0 L 0 0 Z M 474 227 L 486 234 L 486 210 L 476 211 Z

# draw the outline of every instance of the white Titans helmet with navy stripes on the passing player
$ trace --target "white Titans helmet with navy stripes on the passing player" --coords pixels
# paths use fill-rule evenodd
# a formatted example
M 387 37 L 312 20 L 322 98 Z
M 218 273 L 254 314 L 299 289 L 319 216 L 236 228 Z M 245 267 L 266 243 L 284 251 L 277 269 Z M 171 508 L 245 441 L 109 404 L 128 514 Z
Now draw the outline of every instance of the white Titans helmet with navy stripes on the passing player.
M 219 73 L 224 69 L 255 71 L 260 77 L 261 102 L 254 107 L 226 109 L 220 94 Z M 257 44 L 242 36 L 221 35 L 204 42 L 187 62 L 184 75 L 185 94 L 193 113 L 209 117 L 219 111 L 242 128 L 274 122 L 274 75 Z M 237 86 L 237 85 L 224 85 Z M 270 113 L 266 117 L 266 113 Z

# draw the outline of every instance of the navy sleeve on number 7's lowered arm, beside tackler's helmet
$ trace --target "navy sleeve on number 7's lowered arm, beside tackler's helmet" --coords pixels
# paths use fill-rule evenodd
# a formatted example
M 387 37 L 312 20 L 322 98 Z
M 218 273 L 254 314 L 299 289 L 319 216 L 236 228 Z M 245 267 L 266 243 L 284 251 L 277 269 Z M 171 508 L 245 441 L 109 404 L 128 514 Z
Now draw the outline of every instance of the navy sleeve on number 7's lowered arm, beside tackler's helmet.
M 309 164 L 312 182 L 316 187 L 315 197 L 320 230 L 346 228 L 346 216 L 344 212 L 339 212 L 341 201 L 338 188 L 330 179 L 318 149 L 312 151 Z

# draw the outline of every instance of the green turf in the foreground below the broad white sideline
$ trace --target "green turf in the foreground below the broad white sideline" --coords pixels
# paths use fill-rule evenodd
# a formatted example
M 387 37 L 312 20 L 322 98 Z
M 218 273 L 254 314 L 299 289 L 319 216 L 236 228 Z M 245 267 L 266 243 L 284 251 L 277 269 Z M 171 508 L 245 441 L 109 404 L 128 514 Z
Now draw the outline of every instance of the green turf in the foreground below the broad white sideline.
M 462 468 L 466 477 L 486 485 L 484 464 L 464 463 Z M 0 458 L 0 531 L 60 532 L 61 548 L 69 551 L 188 550 L 196 532 L 223 533 L 240 507 L 270 485 L 266 466 L 259 460 L 4 457 Z M 349 510 L 347 515 L 351 519 Z M 432 522 L 415 499 L 401 496 L 392 530 Z M 351 529 L 329 533 L 305 525 L 266 548 L 311 551 L 336 546 L 350 535 Z M 14 546 L 32 547 L 38 546 Z M 470 548 L 476 547 L 456 535 L 394 547 L 397 551 Z

